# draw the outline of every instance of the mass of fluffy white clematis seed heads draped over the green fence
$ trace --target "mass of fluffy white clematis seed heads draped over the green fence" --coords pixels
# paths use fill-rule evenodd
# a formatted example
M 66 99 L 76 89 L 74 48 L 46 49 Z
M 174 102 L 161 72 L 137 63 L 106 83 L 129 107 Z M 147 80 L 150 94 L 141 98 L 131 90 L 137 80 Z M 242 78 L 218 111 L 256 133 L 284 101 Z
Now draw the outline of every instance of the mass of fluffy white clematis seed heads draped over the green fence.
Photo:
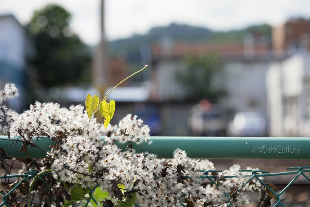
M 11 95 L 2 96 L 2 100 L 13 96 L 14 91 L 17 94 L 14 87 L 6 85 L 2 93 Z M 98 186 L 108 192 L 106 199 L 114 204 L 135 196 L 143 206 L 220 206 L 225 205 L 227 194 L 246 186 L 229 201 L 239 205 L 246 202 L 242 195 L 252 190 L 244 177 L 250 172 L 240 172 L 239 165 L 219 174 L 219 187 L 215 187 L 210 183 L 202 185 L 204 172 L 215 170 L 209 160 L 191 159 L 181 149 L 176 149 L 174 159 L 169 160 L 136 152 L 133 143 L 151 144 L 150 129 L 131 114 L 117 125 L 105 128 L 95 117 L 89 121 L 81 105 L 68 109 L 57 103 L 35 102 L 20 114 L 3 105 L 0 130 L 9 136 L 20 136 L 30 144 L 37 138 L 52 139 L 55 144 L 47 152 L 47 160 L 54 179 L 84 189 Z M 126 144 L 126 150 L 121 150 L 117 143 Z M 236 177 L 220 179 L 224 174 Z

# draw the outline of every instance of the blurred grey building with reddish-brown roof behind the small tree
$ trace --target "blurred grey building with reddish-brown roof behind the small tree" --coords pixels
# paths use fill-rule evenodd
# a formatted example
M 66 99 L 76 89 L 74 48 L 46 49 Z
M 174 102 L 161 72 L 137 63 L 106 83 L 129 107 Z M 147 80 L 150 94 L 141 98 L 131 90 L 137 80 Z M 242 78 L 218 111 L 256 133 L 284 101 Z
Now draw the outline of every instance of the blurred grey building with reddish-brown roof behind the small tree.
M 275 56 L 263 37 L 248 34 L 243 44 L 174 43 L 169 48 L 153 46 L 152 98 L 158 101 L 184 100 L 184 85 L 175 78 L 185 69 L 187 53 L 219 53 L 224 60 L 224 84 L 228 96 L 219 104 L 235 112 L 254 110 L 267 117 L 265 74 Z M 216 84 L 216 83 L 215 83 Z

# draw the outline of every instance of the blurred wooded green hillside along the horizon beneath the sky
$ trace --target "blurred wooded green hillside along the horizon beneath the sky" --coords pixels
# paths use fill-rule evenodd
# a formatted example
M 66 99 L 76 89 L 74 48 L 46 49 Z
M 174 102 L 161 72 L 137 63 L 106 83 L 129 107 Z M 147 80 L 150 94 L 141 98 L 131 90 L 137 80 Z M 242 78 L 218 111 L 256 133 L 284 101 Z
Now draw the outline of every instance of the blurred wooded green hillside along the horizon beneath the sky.
M 161 42 L 164 38 L 169 38 L 172 41 L 240 44 L 244 36 L 249 33 L 264 35 L 267 41 L 270 41 L 271 26 L 266 24 L 253 25 L 241 30 L 222 32 L 173 23 L 166 27 L 153 27 L 144 35 L 135 34 L 130 38 L 111 41 L 109 42 L 109 52 L 112 57 L 115 57 L 117 51 L 124 49 L 128 54 L 127 62 L 131 66 L 139 66 L 141 65 L 141 51 L 145 51 L 145 48 L 149 48 L 153 43 Z

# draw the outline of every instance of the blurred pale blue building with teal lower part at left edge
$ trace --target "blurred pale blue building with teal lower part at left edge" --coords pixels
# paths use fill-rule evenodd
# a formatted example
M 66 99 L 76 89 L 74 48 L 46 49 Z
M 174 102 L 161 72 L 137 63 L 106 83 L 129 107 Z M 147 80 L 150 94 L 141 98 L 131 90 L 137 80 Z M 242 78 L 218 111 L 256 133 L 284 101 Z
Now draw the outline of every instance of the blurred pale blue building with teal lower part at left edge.
M 0 86 L 11 82 L 19 89 L 19 97 L 7 101 L 16 111 L 25 108 L 25 90 L 29 82 L 27 58 L 32 53 L 24 26 L 13 15 L 0 16 Z

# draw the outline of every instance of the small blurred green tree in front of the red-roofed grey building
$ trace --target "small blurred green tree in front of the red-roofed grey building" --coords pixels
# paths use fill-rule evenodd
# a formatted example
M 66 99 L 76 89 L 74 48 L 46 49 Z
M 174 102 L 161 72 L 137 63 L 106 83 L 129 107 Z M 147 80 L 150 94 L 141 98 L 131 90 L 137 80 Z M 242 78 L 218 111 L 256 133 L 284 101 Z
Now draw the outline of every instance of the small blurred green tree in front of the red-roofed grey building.
M 221 85 L 222 62 L 217 54 L 188 54 L 185 56 L 186 68 L 176 74 L 184 85 L 187 98 L 192 101 L 208 99 L 216 103 L 227 94 Z

